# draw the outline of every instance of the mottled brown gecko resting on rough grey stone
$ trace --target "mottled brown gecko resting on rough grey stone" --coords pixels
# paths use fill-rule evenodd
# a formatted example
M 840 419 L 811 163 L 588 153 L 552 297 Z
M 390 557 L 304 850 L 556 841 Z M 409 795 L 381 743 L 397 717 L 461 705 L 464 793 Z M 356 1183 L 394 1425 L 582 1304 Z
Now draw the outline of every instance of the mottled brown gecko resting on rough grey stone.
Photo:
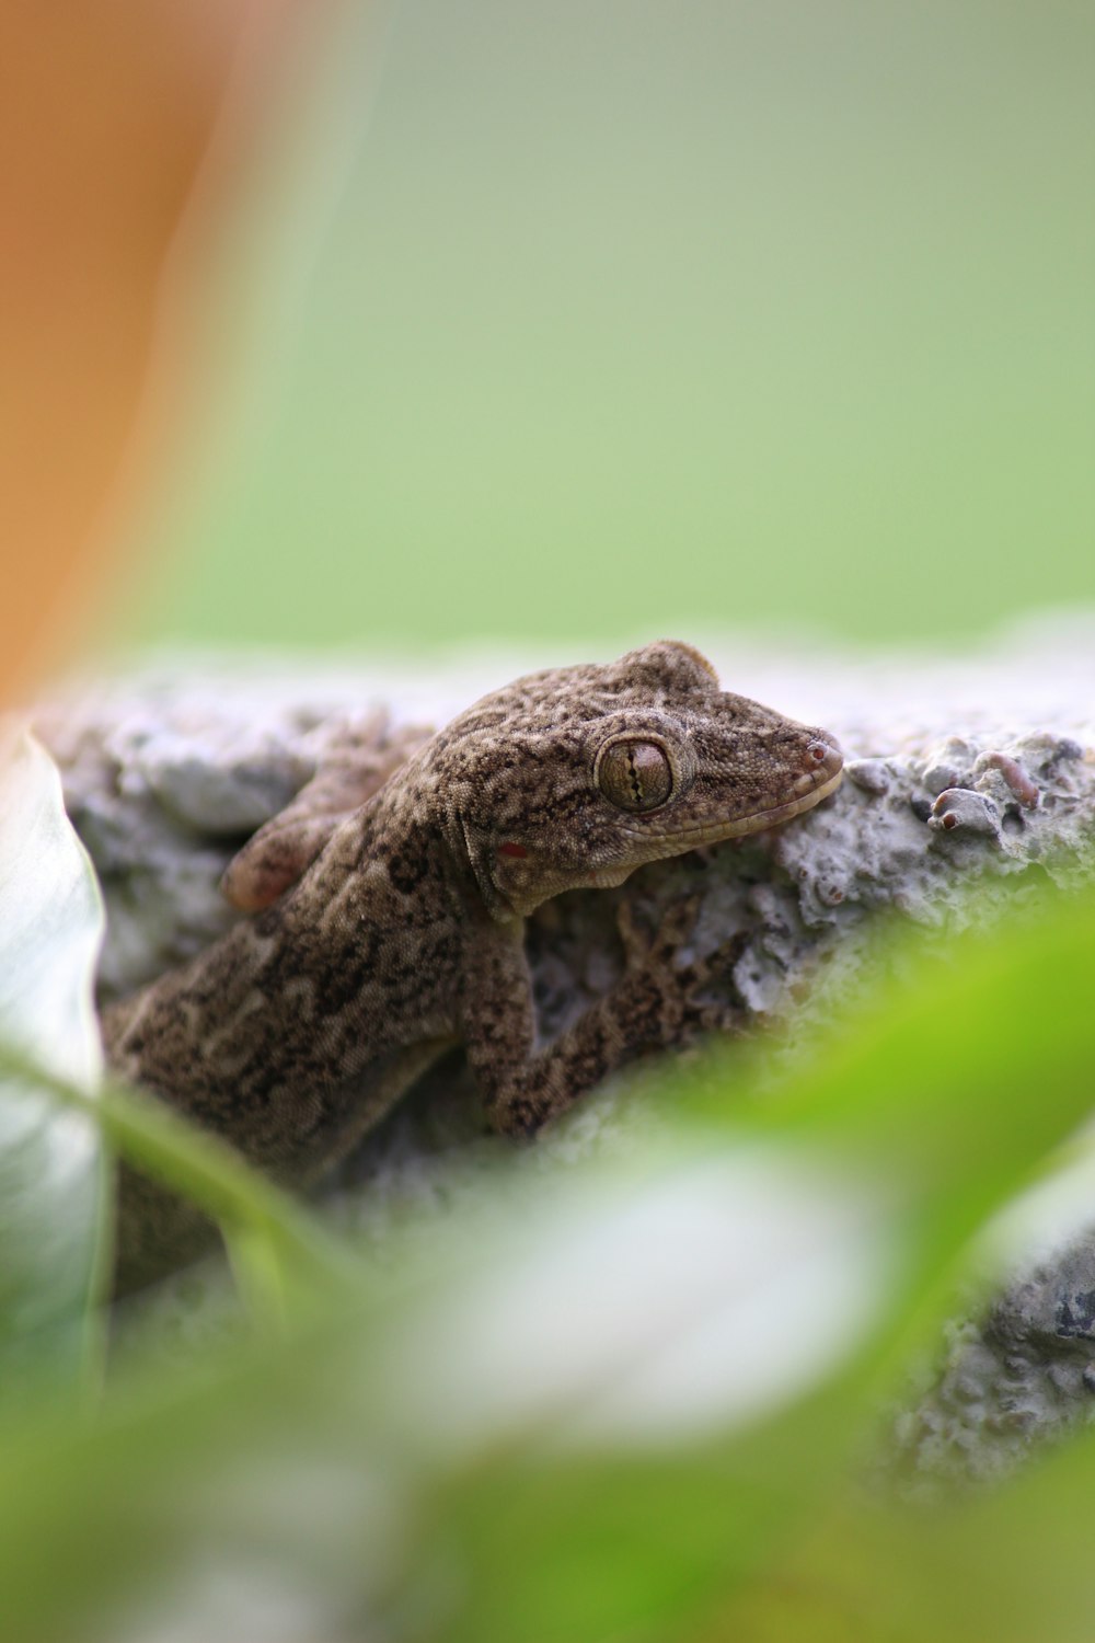
M 619 983 L 547 1045 L 525 918 L 781 825 L 842 774 L 829 731 L 724 692 L 678 641 L 530 674 L 409 746 L 394 769 L 353 749 L 320 769 L 225 874 L 251 917 L 103 1012 L 113 1073 L 287 1188 L 318 1183 L 455 1045 L 489 1125 L 517 1137 L 711 1025 L 703 989 L 731 945 L 690 956 L 694 897 L 652 938 L 621 920 Z M 200 1211 L 121 1168 L 118 1293 L 215 1242 Z

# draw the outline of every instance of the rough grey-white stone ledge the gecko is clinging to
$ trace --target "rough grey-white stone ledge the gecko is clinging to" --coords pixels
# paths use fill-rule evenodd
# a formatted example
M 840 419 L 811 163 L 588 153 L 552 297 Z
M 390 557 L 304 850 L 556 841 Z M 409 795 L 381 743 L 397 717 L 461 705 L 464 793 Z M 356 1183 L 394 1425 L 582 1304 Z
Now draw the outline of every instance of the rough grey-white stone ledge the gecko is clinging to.
M 529 951 L 548 1035 L 621 973 L 624 900 L 653 930 L 681 894 L 696 895 L 699 951 L 742 932 L 722 996 L 758 1025 L 781 1020 L 793 1045 L 850 991 L 868 948 L 877 963 L 880 915 L 946 943 L 1046 879 L 1067 887 L 1095 874 L 1095 616 L 952 656 L 673 636 L 704 649 L 726 688 L 834 731 L 847 779 L 781 831 L 540 909 Z M 103 999 L 190 956 L 238 917 L 218 894 L 220 874 L 348 729 L 363 757 L 391 761 L 424 723 L 443 723 L 520 672 L 589 659 L 557 649 L 333 669 L 189 657 L 84 682 L 41 706 L 36 728 L 61 764 L 107 899 Z M 627 1124 L 617 1091 L 619 1081 L 588 1098 L 552 1145 L 616 1145 Z M 448 1058 L 343 1168 L 338 1214 L 379 1239 L 396 1204 L 437 1208 L 461 1190 L 453 1152 L 466 1183 L 468 1167 L 474 1173 L 506 1145 L 484 1134 L 460 1060 Z M 998 1470 L 1034 1436 L 1095 1406 L 1093 1319 L 1095 1240 L 1084 1239 L 1024 1273 L 985 1318 L 955 1321 L 942 1367 L 898 1418 L 909 1469 Z

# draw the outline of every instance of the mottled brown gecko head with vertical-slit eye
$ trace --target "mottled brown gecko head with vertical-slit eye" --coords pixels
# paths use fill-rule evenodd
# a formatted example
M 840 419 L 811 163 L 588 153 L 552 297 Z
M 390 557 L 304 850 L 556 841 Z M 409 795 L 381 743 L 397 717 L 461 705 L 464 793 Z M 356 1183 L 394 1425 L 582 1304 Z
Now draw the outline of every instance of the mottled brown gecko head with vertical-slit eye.
M 836 739 L 719 688 L 688 644 L 529 674 L 422 754 L 424 797 L 497 918 L 788 822 L 841 780 Z

